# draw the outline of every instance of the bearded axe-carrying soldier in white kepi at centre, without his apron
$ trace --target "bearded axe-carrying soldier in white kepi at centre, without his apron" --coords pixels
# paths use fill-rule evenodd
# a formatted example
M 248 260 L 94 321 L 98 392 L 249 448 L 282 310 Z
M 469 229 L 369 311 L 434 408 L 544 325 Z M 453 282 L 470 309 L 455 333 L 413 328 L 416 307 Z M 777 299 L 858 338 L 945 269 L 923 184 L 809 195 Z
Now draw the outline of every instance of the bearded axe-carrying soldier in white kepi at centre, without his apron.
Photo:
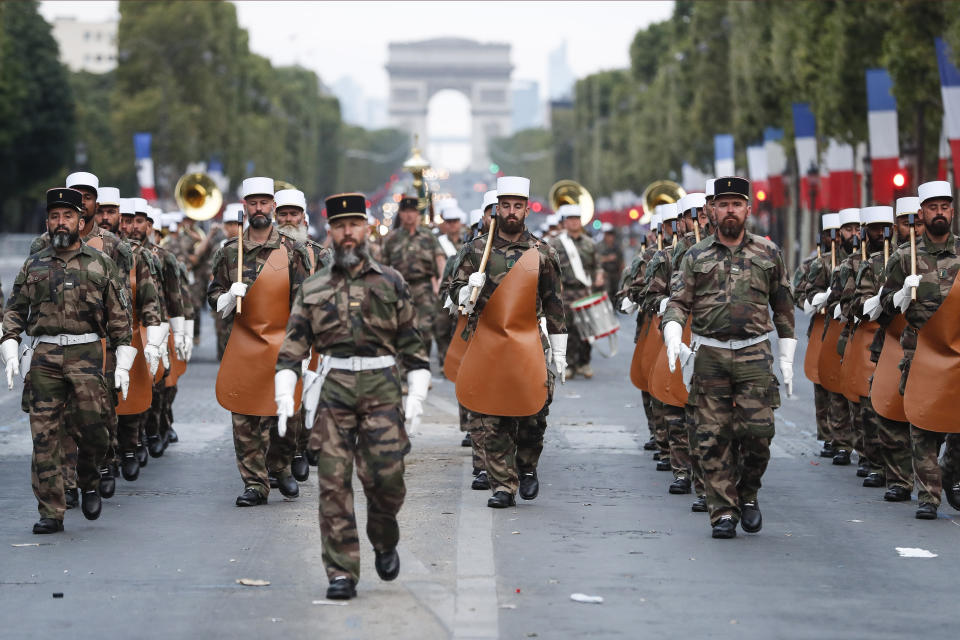
M 496 229 L 467 243 L 463 260 L 450 286 L 450 297 L 471 316 L 467 329 L 473 334 L 478 318 L 510 268 L 528 249 L 536 248 L 539 260 L 536 309 L 546 319 L 549 350 L 561 382 L 566 374 L 567 334 L 563 316 L 563 289 L 556 251 L 526 230 L 529 213 L 530 180 L 520 177 L 497 179 Z M 492 242 L 486 272 L 480 263 L 487 242 Z M 476 299 L 473 291 L 478 290 Z M 546 346 L 544 347 L 546 349 Z M 510 354 L 497 354 L 508 362 Z M 462 375 L 462 374 L 461 374 Z M 553 387 L 553 372 L 547 367 L 547 402 L 532 416 L 479 415 L 483 425 L 483 446 L 487 477 L 493 495 L 487 501 L 492 508 L 516 504 L 515 494 L 533 500 L 540 490 L 537 464 L 543 449 L 543 433 Z

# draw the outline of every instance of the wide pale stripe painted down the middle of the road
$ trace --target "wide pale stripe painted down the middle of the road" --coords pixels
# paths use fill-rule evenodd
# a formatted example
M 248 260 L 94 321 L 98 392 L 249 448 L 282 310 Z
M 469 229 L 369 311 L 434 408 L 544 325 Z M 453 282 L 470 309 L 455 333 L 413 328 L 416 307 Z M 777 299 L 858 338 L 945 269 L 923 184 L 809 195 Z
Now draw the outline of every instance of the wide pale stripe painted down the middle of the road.
M 493 510 L 470 489 L 472 462 L 463 461 L 460 519 L 457 523 L 457 602 L 454 638 L 500 635 L 496 567 L 493 561 Z

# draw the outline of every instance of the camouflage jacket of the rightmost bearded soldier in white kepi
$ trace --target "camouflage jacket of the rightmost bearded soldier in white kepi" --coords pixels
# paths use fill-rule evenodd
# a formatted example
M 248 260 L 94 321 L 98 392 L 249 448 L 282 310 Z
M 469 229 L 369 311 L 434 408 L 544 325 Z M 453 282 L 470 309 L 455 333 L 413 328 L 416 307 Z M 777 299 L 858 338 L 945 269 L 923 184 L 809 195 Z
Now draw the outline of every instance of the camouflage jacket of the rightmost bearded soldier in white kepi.
M 933 244 L 927 234 L 917 238 L 917 275 L 920 285 L 917 287 L 917 299 L 910 303 L 904 312 L 907 327 L 900 336 L 903 355 L 907 363 L 913 358 L 917 348 L 917 332 L 927 320 L 936 313 L 943 300 L 950 293 L 953 281 L 960 273 L 960 256 L 957 255 L 955 235 L 950 235 L 943 244 Z M 900 245 L 890 255 L 884 268 L 884 282 L 880 289 L 880 302 L 885 314 L 899 313 L 893 304 L 893 294 L 903 287 L 903 280 L 910 275 L 910 244 Z

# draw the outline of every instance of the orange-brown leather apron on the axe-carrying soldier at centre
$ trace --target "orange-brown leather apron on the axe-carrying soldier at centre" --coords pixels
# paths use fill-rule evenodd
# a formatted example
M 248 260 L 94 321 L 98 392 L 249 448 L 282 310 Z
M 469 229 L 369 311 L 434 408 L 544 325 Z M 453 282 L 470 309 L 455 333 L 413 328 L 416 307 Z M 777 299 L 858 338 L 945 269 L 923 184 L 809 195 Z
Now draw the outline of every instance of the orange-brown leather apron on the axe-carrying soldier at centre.
M 547 402 L 547 361 L 537 322 L 540 255 L 527 249 L 477 319 L 457 373 L 457 400 L 476 413 L 532 416 Z

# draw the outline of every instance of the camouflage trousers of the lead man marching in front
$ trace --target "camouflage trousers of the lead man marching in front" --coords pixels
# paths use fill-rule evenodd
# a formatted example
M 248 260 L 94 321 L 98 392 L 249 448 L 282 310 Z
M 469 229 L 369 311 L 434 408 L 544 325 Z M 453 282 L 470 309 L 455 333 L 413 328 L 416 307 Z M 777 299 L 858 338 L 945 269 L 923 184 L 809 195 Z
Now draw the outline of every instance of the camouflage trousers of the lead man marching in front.
M 320 537 L 327 577 L 360 578 L 360 536 L 353 504 L 353 467 L 367 498 L 367 537 L 377 551 L 400 540 L 397 514 L 406 497 L 403 458 L 410 440 L 403 426 L 396 367 L 334 369 L 320 392 L 310 449 L 317 452 Z

